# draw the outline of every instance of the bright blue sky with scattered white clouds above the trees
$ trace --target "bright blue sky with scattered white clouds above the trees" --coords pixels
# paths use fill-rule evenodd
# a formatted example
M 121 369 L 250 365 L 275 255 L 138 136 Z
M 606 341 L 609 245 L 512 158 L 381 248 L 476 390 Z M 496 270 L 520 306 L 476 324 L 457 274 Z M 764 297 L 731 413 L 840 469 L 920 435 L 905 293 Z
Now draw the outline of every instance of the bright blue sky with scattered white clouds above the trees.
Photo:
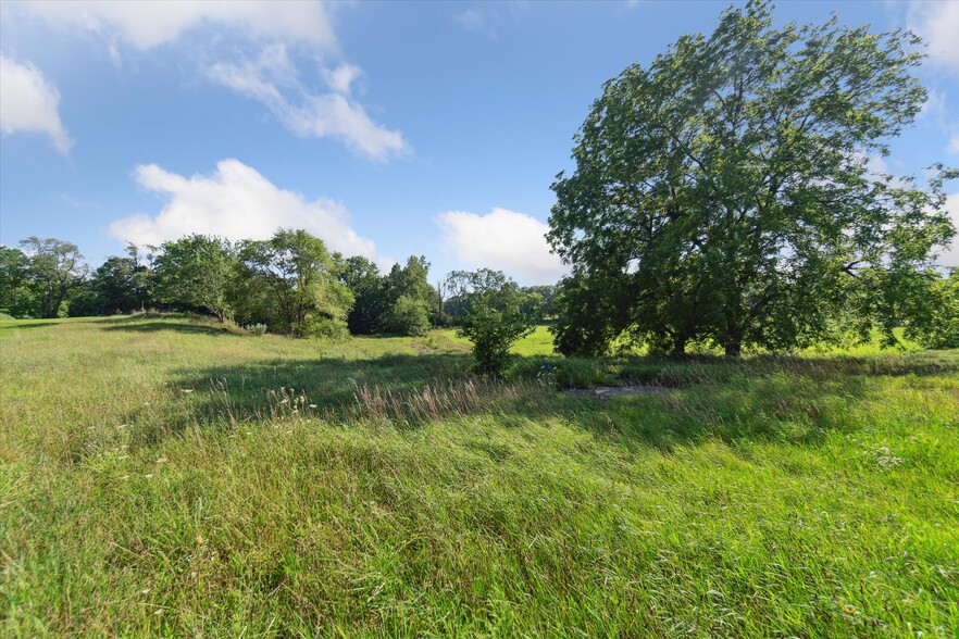
M 303 227 L 524 284 L 563 272 L 549 185 L 602 83 L 728 2 L 0 3 L 0 243 Z M 931 98 L 877 170 L 959 165 L 959 2 L 781 2 L 929 42 Z M 959 225 L 959 184 L 949 209 Z M 943 263 L 959 265 L 959 251 Z

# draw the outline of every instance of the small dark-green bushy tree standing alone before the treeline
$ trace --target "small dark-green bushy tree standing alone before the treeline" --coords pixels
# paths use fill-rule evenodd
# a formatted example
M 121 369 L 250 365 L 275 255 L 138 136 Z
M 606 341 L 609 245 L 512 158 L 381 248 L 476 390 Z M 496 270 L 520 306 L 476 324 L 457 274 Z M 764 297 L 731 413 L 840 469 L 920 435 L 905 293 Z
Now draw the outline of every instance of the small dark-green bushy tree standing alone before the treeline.
M 458 334 L 473 342 L 479 371 L 502 371 L 513 342 L 533 331 L 533 317 L 525 312 L 526 305 L 526 296 L 514 281 L 473 295 Z

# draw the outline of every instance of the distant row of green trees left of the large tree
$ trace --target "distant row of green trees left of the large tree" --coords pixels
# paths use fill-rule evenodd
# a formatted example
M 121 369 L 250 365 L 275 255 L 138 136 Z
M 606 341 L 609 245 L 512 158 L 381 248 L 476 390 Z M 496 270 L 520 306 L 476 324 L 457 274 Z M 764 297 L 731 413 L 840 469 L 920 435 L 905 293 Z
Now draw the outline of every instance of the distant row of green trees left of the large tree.
M 299 337 L 423 335 L 456 325 L 488 291 L 523 293 L 524 315 L 555 315 L 555 287 L 519 287 L 499 271 L 454 271 L 429 281 L 411 255 L 381 273 L 361 256 L 331 253 L 304 230 L 231 242 L 190 235 L 159 247 L 127 245 L 97 268 L 76 245 L 30 237 L 0 247 L 0 313 L 13 317 L 95 316 L 148 309 L 215 316 Z

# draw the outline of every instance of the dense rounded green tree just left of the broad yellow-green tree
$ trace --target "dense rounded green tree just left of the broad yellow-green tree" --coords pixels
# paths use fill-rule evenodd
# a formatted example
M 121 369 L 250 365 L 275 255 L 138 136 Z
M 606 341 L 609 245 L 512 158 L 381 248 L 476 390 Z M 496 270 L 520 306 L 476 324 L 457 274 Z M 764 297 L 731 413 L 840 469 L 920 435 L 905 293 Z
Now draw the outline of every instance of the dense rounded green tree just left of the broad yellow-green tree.
M 157 299 L 163 303 L 212 313 L 225 322 L 236 255 L 226 240 L 194 234 L 163 242 L 155 261 Z

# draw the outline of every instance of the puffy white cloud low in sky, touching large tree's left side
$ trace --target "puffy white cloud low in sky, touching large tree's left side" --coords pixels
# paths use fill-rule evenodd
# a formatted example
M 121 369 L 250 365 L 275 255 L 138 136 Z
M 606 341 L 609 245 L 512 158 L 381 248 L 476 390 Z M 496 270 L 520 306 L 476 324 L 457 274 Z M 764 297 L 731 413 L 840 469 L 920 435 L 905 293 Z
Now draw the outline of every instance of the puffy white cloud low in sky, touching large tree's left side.
M 436 224 L 443 248 L 471 268 L 497 268 L 535 284 L 552 284 L 568 271 L 549 252 L 549 227 L 532 215 L 499 208 L 486 215 L 449 211 Z

